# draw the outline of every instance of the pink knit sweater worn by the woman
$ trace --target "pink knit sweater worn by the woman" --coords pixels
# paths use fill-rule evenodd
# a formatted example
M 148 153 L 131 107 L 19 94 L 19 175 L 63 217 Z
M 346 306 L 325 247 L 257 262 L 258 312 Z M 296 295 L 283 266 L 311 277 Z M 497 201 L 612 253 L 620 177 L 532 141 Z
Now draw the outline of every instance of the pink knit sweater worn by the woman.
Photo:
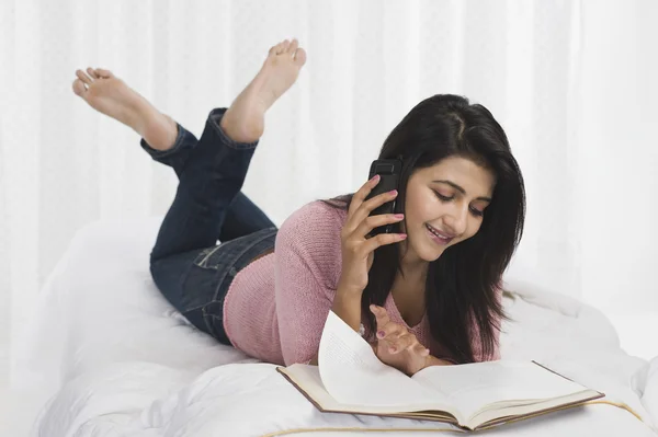
M 286 366 L 306 363 L 317 354 L 341 273 L 340 231 L 345 219 L 347 211 L 321 202 L 305 205 L 282 225 L 274 253 L 236 275 L 224 302 L 224 329 L 235 347 Z M 392 295 L 384 307 L 432 355 L 445 356 L 432 340 L 427 317 L 409 326 Z M 499 359 L 498 346 L 492 357 L 481 355 L 477 329 L 475 333 L 476 360 Z

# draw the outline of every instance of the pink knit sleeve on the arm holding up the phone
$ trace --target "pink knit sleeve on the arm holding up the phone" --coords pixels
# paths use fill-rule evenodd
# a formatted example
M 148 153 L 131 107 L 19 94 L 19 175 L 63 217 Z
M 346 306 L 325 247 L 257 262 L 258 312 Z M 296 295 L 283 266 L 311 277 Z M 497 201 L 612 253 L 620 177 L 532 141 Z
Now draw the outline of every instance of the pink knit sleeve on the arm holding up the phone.
M 318 352 L 340 277 L 340 211 L 315 202 L 284 221 L 275 242 L 275 300 L 286 366 Z

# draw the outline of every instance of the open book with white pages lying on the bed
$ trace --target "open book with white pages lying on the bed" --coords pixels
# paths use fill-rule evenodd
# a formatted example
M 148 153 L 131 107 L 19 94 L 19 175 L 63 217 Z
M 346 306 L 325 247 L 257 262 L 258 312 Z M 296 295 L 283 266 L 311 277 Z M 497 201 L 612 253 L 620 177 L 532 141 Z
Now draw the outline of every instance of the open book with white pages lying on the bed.
M 318 363 L 277 370 L 322 412 L 436 421 L 463 429 L 489 428 L 604 396 L 535 361 L 431 366 L 409 378 L 379 361 L 333 312 Z

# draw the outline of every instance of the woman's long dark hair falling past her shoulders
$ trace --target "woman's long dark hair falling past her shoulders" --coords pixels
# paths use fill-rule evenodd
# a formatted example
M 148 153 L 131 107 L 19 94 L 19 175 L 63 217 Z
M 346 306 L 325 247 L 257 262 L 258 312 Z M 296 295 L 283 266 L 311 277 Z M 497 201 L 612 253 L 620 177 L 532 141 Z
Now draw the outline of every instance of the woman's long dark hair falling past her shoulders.
M 409 176 L 451 156 L 470 159 L 496 175 L 491 203 L 478 232 L 447 248 L 428 268 L 426 302 L 432 336 L 452 359 L 464 364 L 475 360 L 472 326 L 479 332 L 480 352 L 491 356 L 499 321 L 508 319 L 496 295 L 523 234 L 525 188 L 507 136 L 491 113 L 463 96 L 438 94 L 416 105 L 379 152 L 379 159 L 402 160 L 398 212 L 404 212 Z M 352 195 L 322 202 L 348 209 Z M 399 232 L 399 226 L 394 232 Z M 375 251 L 361 299 L 364 324 L 371 333 L 376 324 L 370 304 L 384 306 L 396 274 L 402 274 L 399 258 L 398 244 Z

